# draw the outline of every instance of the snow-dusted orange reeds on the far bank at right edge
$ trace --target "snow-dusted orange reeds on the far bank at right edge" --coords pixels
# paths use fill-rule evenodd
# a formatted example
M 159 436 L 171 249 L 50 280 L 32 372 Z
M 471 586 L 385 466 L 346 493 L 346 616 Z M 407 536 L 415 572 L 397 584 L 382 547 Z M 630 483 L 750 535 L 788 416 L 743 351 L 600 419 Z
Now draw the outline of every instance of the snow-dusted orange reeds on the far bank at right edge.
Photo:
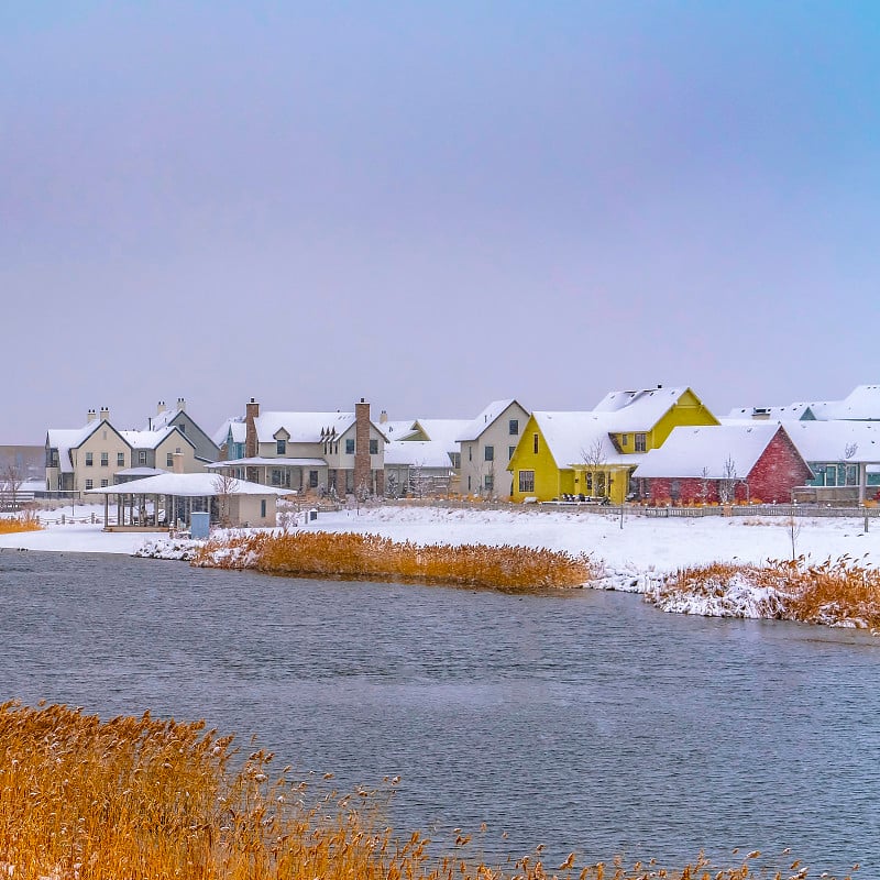
M 663 585 L 660 597 L 676 593 L 722 597 L 743 584 L 758 595 L 760 616 L 880 630 L 880 570 L 848 556 L 821 563 L 799 557 L 763 565 L 716 562 L 681 569 Z

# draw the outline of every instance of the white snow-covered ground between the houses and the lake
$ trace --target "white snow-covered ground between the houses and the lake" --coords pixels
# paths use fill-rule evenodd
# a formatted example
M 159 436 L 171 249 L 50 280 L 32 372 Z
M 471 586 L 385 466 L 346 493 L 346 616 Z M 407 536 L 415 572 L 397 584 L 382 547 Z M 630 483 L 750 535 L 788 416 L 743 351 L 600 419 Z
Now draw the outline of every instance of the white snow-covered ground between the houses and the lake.
M 61 514 L 65 513 L 65 524 Z M 134 553 L 155 535 L 103 532 L 102 507 L 78 505 L 76 518 L 91 513 L 97 522 L 70 524 L 70 509 L 54 510 L 42 531 L 0 535 L 0 549 L 66 552 Z M 821 561 L 844 554 L 880 565 L 880 521 L 864 531 L 861 518 L 798 520 L 796 552 Z M 364 531 L 417 543 L 490 543 L 546 547 L 591 553 L 609 576 L 662 574 L 683 565 L 712 561 L 763 562 L 791 556 L 791 531 L 784 517 L 718 516 L 654 519 L 629 516 L 620 528 L 614 512 L 447 509 L 387 506 L 321 513 L 305 526 L 328 531 Z

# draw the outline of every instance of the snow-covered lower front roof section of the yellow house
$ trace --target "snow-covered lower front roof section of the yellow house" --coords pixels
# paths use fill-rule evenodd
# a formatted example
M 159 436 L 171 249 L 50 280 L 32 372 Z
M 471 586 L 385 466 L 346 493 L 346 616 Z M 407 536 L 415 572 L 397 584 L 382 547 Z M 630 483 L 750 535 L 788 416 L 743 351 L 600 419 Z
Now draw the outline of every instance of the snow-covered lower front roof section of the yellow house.
M 608 433 L 615 431 L 614 413 L 536 411 L 532 418 L 559 468 L 583 464 L 636 464 L 645 453 L 618 452 Z

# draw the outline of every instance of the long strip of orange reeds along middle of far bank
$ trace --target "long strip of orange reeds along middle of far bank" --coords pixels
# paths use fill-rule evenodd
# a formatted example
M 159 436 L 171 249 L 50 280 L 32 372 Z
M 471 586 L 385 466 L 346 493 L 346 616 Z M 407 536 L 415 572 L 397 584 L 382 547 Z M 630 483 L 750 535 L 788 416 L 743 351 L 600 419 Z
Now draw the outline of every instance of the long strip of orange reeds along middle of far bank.
M 206 543 L 194 565 L 309 578 L 405 580 L 510 592 L 580 586 L 596 578 L 586 554 L 526 547 L 418 544 L 376 535 L 295 531 Z

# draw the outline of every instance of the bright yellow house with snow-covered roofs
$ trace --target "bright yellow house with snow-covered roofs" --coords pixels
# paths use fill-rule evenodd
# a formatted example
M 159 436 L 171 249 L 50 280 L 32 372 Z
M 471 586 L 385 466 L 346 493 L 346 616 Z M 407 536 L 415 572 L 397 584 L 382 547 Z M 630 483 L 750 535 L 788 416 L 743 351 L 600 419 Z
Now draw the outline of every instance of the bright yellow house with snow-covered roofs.
M 636 465 L 673 428 L 718 424 L 681 387 L 612 392 L 588 411 L 532 413 L 508 464 L 513 499 L 574 495 L 620 504 L 631 493 Z

